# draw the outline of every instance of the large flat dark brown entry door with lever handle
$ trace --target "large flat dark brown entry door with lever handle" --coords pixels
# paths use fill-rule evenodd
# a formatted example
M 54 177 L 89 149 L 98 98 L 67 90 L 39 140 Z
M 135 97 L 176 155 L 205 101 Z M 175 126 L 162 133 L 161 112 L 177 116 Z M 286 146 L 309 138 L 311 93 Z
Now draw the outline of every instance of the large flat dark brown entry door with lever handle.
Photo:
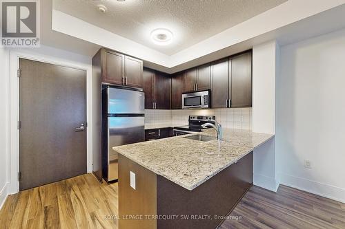
M 86 71 L 20 59 L 19 189 L 86 173 Z

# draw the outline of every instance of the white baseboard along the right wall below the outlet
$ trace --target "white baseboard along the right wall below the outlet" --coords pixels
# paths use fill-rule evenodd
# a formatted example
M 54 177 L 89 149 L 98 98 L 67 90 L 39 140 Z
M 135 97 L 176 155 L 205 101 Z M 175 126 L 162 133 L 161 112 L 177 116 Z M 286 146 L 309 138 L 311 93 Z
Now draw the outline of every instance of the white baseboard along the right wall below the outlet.
M 302 177 L 295 177 L 285 173 L 279 173 L 280 184 L 290 186 L 291 188 L 297 188 L 304 190 L 308 193 L 313 193 L 322 197 L 333 199 L 345 204 L 345 189 L 329 184 L 323 184 L 315 182 L 311 179 L 305 179 Z

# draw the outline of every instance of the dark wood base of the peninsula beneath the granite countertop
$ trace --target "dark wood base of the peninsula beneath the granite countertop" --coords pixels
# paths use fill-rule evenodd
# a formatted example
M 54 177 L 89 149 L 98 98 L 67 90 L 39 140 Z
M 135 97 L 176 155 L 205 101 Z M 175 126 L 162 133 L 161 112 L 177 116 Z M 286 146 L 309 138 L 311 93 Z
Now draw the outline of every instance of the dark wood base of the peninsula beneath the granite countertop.
M 129 184 L 130 171 L 136 173 L 136 190 Z M 193 190 L 119 155 L 119 228 L 217 228 L 252 185 L 253 152 Z M 143 219 L 124 219 L 126 215 Z

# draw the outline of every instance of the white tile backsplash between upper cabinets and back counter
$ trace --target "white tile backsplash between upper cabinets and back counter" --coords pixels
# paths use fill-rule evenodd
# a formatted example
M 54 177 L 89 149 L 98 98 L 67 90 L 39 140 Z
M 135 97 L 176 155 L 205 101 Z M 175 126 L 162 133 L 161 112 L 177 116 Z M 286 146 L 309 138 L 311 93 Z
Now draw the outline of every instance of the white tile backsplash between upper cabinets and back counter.
M 145 124 L 188 124 L 188 116 L 215 116 L 224 128 L 252 129 L 252 108 L 145 110 Z

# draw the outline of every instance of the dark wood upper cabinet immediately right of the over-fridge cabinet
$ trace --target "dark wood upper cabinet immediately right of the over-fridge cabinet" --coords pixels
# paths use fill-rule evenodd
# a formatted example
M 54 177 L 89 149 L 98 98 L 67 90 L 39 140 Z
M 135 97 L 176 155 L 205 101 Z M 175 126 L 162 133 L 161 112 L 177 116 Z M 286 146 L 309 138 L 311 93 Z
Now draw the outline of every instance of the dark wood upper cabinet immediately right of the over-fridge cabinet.
M 170 109 L 171 78 L 168 74 L 144 68 L 145 109 Z

